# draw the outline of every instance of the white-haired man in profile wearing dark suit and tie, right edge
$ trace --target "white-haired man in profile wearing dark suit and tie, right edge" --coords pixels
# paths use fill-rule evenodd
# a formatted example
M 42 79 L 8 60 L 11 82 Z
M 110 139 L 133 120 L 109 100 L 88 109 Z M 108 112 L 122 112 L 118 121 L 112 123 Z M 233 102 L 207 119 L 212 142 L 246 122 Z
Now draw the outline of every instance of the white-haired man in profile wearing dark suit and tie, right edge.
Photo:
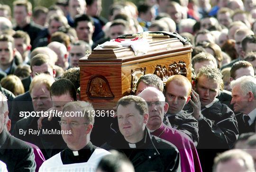
M 256 123 L 256 78 L 243 76 L 231 81 L 232 101 L 238 120 L 239 134 L 255 132 Z

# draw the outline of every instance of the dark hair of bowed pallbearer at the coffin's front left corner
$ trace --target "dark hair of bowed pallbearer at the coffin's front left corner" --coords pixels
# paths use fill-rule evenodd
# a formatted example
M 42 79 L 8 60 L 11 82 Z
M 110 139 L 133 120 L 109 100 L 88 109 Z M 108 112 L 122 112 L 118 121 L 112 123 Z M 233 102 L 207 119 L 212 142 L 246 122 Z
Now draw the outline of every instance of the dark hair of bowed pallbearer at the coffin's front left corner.
M 52 97 L 64 94 L 69 94 L 74 100 L 76 100 L 76 89 L 73 83 L 69 79 L 61 78 L 52 84 L 50 95 Z

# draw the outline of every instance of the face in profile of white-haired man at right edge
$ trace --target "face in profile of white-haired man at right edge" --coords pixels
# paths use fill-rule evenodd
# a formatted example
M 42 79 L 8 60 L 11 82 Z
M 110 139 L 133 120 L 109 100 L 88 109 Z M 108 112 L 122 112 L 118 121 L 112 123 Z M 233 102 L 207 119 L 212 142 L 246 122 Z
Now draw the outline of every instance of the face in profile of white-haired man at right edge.
M 248 95 L 243 95 L 240 85 L 236 85 L 232 89 L 231 104 L 234 105 L 235 112 L 243 112 L 248 106 Z

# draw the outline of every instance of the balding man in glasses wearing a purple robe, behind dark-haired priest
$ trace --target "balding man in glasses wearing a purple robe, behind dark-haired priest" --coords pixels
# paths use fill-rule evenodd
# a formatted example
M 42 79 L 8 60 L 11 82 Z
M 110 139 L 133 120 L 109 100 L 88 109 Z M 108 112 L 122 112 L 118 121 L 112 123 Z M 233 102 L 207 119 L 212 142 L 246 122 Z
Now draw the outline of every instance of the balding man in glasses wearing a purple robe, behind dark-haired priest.
M 155 87 L 145 88 L 139 95 L 148 105 L 149 120 L 146 127 L 152 135 L 162 138 L 176 146 L 181 156 L 182 172 L 202 172 L 196 148 L 185 133 L 164 124 L 164 115 L 168 111 L 164 94 Z

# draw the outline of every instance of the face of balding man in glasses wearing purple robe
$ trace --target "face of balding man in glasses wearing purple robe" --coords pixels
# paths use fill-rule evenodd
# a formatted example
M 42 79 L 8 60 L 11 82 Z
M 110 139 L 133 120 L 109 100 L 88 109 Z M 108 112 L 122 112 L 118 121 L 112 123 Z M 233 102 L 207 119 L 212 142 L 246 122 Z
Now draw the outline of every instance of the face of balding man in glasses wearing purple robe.
M 147 105 L 148 105 L 148 122 L 146 126 L 149 129 L 157 129 L 161 126 L 163 120 L 164 120 L 164 115 L 168 110 L 168 103 L 165 103 L 165 100 L 161 100 L 161 96 L 158 95 L 157 93 L 149 90 L 145 90 L 146 94 L 139 95 L 142 97 Z

